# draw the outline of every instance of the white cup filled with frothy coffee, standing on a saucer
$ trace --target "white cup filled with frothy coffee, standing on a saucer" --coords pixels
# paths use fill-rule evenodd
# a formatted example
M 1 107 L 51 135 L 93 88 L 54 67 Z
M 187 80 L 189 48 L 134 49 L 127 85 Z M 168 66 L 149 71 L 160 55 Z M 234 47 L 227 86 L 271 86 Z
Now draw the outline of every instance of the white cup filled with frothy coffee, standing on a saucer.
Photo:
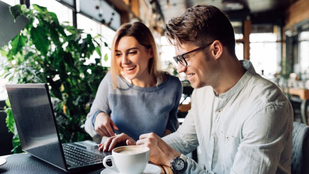
M 106 161 L 111 159 L 112 166 Z M 149 160 L 149 148 L 143 146 L 121 146 L 112 150 L 112 155 L 103 159 L 103 165 L 119 174 L 141 174 Z

